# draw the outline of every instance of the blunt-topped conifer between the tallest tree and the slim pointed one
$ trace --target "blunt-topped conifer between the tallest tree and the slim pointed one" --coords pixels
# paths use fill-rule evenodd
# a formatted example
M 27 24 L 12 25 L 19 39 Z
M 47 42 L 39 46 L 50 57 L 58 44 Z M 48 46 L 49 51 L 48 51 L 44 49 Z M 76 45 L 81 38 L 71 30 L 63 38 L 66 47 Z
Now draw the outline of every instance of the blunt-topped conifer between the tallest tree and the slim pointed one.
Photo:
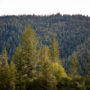
M 40 59 L 40 76 L 45 83 L 43 87 L 45 90 L 55 90 L 56 77 L 53 75 L 52 62 L 49 58 L 49 48 L 47 46 L 41 49 Z

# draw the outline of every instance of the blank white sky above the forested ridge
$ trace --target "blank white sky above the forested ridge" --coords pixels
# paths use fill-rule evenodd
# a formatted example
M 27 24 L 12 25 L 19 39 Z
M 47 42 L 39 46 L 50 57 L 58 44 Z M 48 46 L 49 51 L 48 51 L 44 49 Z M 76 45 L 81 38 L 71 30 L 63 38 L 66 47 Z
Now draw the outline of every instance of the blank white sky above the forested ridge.
M 0 16 L 56 13 L 90 16 L 90 0 L 0 0 Z

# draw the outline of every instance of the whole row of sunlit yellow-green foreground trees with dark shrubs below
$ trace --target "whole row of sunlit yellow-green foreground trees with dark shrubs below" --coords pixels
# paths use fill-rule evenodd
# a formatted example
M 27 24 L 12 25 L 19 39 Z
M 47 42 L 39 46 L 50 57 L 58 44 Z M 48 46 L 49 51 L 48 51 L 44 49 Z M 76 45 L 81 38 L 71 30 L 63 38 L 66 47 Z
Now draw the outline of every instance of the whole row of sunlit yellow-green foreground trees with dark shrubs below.
M 8 64 L 6 47 L 0 55 L 0 90 L 89 90 L 90 55 L 87 74 L 80 74 L 80 63 L 74 52 L 66 72 L 60 58 L 57 36 L 42 45 L 30 25 L 19 36 L 20 43 Z

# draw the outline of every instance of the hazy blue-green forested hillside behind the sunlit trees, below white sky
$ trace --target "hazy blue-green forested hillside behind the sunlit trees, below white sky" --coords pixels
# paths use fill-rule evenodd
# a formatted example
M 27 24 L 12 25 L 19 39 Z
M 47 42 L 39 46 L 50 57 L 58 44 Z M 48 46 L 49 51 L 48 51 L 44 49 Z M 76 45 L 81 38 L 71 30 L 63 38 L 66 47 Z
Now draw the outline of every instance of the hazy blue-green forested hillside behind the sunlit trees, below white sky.
M 71 63 L 72 54 L 76 52 L 81 65 L 81 73 L 86 73 L 87 56 L 90 52 L 90 17 L 82 15 L 62 16 L 60 14 L 1 16 L 0 52 L 6 47 L 9 62 L 20 43 L 19 35 L 27 24 L 30 24 L 37 33 L 41 46 L 50 45 L 51 38 L 56 35 L 60 48 L 60 58 L 63 58 L 62 62 L 66 70 Z

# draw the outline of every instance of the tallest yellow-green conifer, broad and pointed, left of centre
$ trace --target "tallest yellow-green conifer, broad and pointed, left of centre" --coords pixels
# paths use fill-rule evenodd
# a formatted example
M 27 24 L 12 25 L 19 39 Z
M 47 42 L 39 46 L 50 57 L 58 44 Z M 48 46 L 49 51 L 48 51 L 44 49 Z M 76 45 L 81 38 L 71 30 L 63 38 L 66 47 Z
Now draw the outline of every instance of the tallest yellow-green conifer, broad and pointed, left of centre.
M 36 71 L 38 39 L 30 25 L 25 27 L 25 32 L 22 33 L 20 39 L 20 47 L 14 56 L 16 67 L 22 70 L 19 71 L 23 78 L 33 78 Z

